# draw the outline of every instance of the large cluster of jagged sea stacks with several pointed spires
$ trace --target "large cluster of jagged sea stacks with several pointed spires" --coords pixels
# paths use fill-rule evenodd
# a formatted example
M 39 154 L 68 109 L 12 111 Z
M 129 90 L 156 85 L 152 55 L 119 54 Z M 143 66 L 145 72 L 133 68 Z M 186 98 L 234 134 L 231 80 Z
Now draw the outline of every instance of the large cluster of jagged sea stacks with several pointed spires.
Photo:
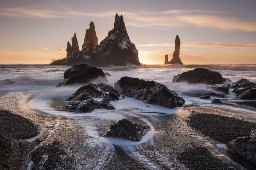
M 72 38 L 72 46 L 69 43 L 67 45 L 67 57 L 54 61 L 50 65 L 76 64 L 93 66 L 141 65 L 138 50 L 130 41 L 122 15 L 116 14 L 114 28 L 108 32 L 108 36 L 99 45 L 95 25 L 91 22 L 90 28 L 86 30 L 81 53 L 75 34 Z

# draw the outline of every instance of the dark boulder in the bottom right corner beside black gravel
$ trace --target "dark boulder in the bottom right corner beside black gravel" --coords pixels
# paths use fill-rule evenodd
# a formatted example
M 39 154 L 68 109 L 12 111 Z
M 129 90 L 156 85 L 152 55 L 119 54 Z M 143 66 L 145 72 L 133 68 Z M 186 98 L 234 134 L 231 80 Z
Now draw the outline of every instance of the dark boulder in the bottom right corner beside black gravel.
M 253 129 L 255 130 L 255 129 Z M 232 157 L 238 159 L 248 167 L 256 167 L 256 136 L 252 130 L 251 136 L 237 137 L 235 140 L 227 142 L 227 148 Z

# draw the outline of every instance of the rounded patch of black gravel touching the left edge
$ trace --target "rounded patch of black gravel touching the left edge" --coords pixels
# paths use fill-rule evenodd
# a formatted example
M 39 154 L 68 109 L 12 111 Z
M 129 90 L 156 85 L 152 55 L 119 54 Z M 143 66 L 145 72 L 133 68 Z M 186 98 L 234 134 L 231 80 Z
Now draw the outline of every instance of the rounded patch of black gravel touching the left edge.
M 29 139 L 39 134 L 38 125 L 8 110 L 0 110 L 0 135 Z

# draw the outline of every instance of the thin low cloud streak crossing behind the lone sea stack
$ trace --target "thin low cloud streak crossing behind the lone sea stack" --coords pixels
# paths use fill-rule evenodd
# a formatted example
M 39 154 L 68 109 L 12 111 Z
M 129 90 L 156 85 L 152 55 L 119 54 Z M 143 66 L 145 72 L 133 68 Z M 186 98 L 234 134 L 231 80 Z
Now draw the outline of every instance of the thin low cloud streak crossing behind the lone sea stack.
M 174 43 L 163 44 L 142 44 L 136 45 L 138 47 L 172 47 Z M 256 48 L 256 44 L 228 44 L 217 42 L 181 42 L 181 46 L 184 47 L 228 47 L 228 48 Z

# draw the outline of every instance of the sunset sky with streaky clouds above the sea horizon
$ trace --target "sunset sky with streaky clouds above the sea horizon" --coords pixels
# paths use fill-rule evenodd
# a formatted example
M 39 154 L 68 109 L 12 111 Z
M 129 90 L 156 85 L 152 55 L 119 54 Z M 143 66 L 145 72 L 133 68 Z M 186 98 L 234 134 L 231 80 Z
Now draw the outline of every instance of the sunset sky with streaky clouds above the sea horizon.
M 0 64 L 49 64 L 95 23 L 98 44 L 123 15 L 143 64 L 256 64 L 255 0 L 1 0 Z

